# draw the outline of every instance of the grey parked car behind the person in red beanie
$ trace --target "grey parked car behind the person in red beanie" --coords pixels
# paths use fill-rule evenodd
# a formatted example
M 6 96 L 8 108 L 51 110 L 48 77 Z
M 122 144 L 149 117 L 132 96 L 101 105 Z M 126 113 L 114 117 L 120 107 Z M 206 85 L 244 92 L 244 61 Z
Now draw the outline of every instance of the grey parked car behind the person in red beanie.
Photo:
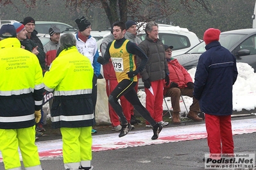
M 254 72 L 256 71 L 256 28 L 223 32 L 219 36 L 219 42 L 234 54 L 237 62 L 248 63 Z M 198 59 L 203 52 L 205 52 L 205 42 L 174 58 L 189 70 L 198 65 Z

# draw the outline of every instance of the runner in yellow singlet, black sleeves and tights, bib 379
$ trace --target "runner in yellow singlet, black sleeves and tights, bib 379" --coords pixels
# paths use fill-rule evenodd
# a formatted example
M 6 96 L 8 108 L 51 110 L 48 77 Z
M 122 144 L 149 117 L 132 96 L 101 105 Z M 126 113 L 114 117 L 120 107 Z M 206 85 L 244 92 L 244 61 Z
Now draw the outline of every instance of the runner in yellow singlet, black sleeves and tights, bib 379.
M 151 139 L 157 139 L 158 134 L 162 130 L 162 125 L 158 124 L 150 116 L 146 108 L 141 104 L 137 92 L 134 87 L 137 84 L 137 74 L 141 72 L 148 62 L 148 57 L 142 50 L 133 42 L 126 40 L 124 34 L 126 27 L 123 22 L 115 22 L 113 25 L 113 35 L 115 40 L 108 43 L 104 57 L 99 57 L 98 62 L 102 65 L 108 63 L 112 59 L 117 81 L 119 82 L 116 88 L 108 97 L 108 102 L 113 107 L 122 122 L 122 129 L 119 137 L 128 134 L 132 126 L 126 120 L 121 105 L 118 99 L 124 97 L 130 102 L 134 109 L 137 110 L 141 116 L 147 120 L 153 127 L 153 136 Z M 136 68 L 134 56 L 141 58 L 141 64 Z

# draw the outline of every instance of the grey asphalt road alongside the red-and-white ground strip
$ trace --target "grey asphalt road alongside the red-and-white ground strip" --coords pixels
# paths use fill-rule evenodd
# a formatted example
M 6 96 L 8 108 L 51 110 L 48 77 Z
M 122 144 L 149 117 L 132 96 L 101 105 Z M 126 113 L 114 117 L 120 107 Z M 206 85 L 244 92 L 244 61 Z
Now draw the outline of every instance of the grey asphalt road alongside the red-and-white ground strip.
M 237 117 L 232 120 L 243 121 L 250 118 L 255 116 Z M 256 153 L 255 139 L 256 133 L 234 135 L 235 153 Z M 199 170 L 204 169 L 202 158 L 208 151 L 207 139 L 151 144 L 93 152 L 92 165 L 95 170 Z M 41 160 L 41 164 L 44 170 L 65 169 L 62 158 Z M 4 169 L 3 162 L 0 163 L 0 169 Z

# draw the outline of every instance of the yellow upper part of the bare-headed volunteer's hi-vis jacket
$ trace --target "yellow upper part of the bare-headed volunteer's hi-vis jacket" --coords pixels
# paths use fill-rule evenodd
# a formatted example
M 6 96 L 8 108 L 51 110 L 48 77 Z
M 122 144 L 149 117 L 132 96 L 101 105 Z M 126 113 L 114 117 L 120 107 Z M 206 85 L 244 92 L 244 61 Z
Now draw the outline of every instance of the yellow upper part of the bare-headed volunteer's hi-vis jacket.
M 83 95 L 92 93 L 93 74 L 89 59 L 71 47 L 60 52 L 43 81 L 45 89 L 54 91 L 55 96 Z

